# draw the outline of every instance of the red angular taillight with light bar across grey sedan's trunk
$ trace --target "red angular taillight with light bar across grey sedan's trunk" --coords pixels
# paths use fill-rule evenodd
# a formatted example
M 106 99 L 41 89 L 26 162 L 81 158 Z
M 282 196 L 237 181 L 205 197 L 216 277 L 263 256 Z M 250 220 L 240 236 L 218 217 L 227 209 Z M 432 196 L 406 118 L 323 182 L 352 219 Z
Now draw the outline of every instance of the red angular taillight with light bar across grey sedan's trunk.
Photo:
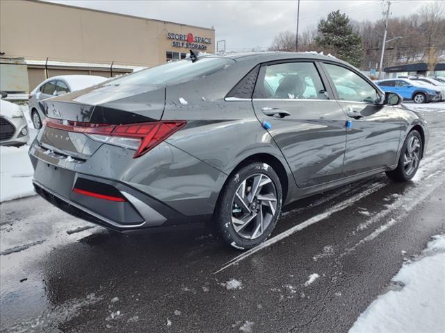
M 84 133 L 100 142 L 136 149 L 133 158 L 144 155 L 154 146 L 160 144 L 186 124 L 186 121 L 152 121 L 149 123 L 128 123 L 109 125 L 104 123 L 81 123 L 78 121 L 61 121 L 45 119 L 51 128 L 69 132 Z

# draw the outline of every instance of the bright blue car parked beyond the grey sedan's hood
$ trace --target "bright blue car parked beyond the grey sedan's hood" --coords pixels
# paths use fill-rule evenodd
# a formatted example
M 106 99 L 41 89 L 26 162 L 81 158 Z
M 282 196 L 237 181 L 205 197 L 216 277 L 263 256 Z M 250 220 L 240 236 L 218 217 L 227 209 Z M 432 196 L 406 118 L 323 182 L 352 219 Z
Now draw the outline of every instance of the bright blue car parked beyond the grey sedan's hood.
M 378 80 L 375 83 L 384 92 L 396 92 L 403 97 L 405 101 L 414 101 L 414 103 L 427 103 L 440 101 L 442 95 L 439 89 L 434 89 L 430 85 L 423 85 L 407 78 L 389 78 Z

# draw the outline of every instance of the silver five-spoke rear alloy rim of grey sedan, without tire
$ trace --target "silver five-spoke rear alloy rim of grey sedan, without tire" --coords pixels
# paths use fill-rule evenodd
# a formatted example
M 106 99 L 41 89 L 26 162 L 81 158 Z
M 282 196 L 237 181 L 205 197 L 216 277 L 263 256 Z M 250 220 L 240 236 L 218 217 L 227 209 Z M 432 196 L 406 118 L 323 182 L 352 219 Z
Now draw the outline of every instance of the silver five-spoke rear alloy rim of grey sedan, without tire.
M 232 226 L 238 236 L 256 239 L 273 221 L 277 210 L 277 190 L 263 173 L 249 176 L 235 191 L 232 199 Z

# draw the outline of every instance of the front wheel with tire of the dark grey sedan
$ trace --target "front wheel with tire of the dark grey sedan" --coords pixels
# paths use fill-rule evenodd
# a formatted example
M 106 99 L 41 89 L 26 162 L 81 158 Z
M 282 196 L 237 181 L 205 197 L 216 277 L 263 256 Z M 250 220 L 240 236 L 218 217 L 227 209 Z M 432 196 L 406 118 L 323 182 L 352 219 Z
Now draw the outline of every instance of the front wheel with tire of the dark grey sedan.
M 413 147 L 415 147 L 414 150 Z M 393 171 L 387 171 L 387 176 L 398 182 L 406 182 L 412 179 L 417 169 L 419 169 L 422 149 L 423 142 L 420 133 L 417 130 L 412 130 L 403 143 L 397 168 Z

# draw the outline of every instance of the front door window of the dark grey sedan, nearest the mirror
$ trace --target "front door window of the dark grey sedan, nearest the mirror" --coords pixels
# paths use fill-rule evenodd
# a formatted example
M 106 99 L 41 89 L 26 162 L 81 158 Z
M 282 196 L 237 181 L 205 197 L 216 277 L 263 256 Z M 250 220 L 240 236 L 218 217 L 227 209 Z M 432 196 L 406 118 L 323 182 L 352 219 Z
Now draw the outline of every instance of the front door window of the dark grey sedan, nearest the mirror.
M 337 65 L 324 65 L 341 100 L 365 103 L 377 103 L 380 100 L 377 90 L 353 71 Z

